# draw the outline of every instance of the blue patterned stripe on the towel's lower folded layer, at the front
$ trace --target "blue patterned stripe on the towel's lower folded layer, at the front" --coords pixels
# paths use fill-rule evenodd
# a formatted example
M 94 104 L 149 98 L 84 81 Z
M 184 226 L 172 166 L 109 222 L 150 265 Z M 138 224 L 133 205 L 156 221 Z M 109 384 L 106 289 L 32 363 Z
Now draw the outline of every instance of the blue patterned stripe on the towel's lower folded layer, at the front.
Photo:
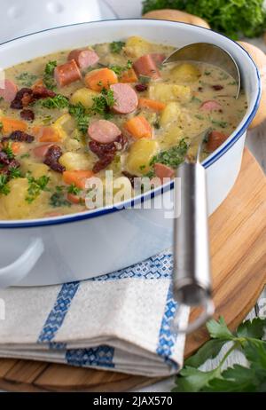
M 114 349 L 110 346 L 98 346 L 90 349 L 66 351 L 66 363 L 71 366 L 114 367 Z

